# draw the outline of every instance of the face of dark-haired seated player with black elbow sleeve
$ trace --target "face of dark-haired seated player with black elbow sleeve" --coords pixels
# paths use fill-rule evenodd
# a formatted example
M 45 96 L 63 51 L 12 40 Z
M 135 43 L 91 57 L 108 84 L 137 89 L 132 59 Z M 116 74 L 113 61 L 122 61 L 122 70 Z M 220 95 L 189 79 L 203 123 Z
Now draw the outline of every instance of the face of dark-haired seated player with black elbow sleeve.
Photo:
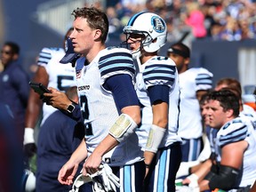
M 215 129 L 220 129 L 220 127 L 226 123 L 226 113 L 220 106 L 220 101 L 209 100 L 209 109 L 206 112 L 206 116 L 209 116 L 208 124 Z

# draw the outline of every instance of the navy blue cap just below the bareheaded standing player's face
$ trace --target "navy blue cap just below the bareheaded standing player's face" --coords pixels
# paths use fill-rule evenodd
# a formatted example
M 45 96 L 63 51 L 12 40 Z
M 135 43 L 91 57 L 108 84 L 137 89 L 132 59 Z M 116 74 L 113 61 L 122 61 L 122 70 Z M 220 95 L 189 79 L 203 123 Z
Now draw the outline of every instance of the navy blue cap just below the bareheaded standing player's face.
M 66 51 L 65 56 L 60 60 L 60 63 L 62 64 L 74 62 L 79 57 L 79 54 L 74 52 L 72 40 L 69 37 L 65 41 L 65 51 Z

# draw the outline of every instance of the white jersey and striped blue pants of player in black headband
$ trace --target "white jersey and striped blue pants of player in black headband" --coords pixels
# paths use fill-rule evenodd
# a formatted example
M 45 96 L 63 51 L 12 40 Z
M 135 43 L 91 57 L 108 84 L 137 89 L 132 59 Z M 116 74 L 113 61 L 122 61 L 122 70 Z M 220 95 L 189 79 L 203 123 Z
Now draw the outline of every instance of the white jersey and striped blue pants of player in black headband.
M 212 89 L 212 73 L 205 68 L 189 68 L 179 74 L 179 80 L 182 162 L 189 162 L 195 161 L 202 149 L 203 124 L 196 92 Z

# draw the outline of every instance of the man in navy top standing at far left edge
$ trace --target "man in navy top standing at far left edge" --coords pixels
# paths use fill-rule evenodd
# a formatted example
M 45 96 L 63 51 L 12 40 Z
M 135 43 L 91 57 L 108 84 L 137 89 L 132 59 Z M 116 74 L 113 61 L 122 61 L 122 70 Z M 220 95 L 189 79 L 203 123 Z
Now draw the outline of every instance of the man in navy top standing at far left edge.
M 14 42 L 5 42 L 1 50 L 4 70 L 0 73 L 0 100 L 7 104 L 15 119 L 15 134 L 22 145 L 24 133 L 25 109 L 28 104 L 29 76 L 19 63 L 20 46 Z

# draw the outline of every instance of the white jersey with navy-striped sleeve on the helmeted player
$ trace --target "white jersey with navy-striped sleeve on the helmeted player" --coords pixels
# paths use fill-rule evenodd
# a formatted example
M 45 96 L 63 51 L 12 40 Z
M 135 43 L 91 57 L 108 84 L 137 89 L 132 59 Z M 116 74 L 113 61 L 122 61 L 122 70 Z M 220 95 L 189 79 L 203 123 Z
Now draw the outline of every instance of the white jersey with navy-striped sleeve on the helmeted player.
M 148 97 L 148 87 L 164 84 L 170 87 L 169 92 L 169 116 L 168 127 L 159 148 L 171 145 L 173 142 L 181 141 L 178 132 L 180 90 L 178 72 L 175 63 L 166 57 L 156 56 L 143 65 L 138 66 L 140 71 L 136 75 L 136 92 L 140 100 L 141 126 L 137 129 L 140 146 L 144 148 L 148 140 L 148 132 L 153 123 L 153 113 Z

